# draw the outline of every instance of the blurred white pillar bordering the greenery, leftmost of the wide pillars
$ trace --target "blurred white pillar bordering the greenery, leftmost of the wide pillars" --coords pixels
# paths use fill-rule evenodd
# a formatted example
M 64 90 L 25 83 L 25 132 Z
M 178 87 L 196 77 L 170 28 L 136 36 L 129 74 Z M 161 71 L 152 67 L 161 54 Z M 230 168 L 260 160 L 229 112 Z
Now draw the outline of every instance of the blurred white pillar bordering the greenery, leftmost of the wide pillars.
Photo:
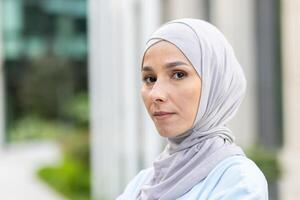
M 114 199 L 121 180 L 119 42 L 121 34 L 117 0 L 90 0 L 89 91 L 91 111 L 92 196 Z

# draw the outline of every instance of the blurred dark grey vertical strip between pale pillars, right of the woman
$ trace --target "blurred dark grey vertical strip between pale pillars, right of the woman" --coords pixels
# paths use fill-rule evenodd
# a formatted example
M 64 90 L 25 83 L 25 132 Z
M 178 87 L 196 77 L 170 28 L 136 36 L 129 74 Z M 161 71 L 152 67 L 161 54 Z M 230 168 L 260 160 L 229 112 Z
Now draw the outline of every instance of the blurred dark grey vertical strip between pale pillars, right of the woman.
M 281 56 L 279 1 L 256 1 L 259 143 L 267 149 L 282 145 Z

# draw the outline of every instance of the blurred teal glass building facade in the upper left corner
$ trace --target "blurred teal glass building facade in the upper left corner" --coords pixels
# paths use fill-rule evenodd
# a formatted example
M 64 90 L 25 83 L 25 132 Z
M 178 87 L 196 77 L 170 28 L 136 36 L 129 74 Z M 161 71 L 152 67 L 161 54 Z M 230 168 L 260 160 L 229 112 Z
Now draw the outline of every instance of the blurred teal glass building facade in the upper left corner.
M 47 54 L 85 59 L 85 0 L 4 0 L 1 3 L 5 10 L 6 60 L 36 59 Z

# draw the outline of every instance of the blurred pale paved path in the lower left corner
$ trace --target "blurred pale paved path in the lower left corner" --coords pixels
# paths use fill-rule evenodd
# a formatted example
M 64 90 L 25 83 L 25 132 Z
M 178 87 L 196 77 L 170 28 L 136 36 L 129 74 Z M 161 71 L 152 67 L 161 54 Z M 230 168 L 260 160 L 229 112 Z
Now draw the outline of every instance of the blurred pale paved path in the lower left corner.
M 36 176 L 39 167 L 59 158 L 57 146 L 50 143 L 10 145 L 0 151 L 1 199 L 63 200 Z

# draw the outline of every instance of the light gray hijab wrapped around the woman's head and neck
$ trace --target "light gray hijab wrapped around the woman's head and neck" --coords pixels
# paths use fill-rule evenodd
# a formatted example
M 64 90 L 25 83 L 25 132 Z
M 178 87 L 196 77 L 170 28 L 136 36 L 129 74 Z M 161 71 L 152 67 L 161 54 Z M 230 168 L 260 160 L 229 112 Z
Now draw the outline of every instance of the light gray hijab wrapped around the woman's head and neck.
M 193 127 L 167 139 L 165 150 L 153 163 L 151 181 L 140 190 L 140 200 L 177 199 L 225 158 L 244 155 L 226 127 L 246 90 L 231 45 L 216 27 L 198 19 L 164 24 L 151 35 L 144 53 L 161 40 L 177 46 L 192 63 L 202 80 L 201 99 Z

